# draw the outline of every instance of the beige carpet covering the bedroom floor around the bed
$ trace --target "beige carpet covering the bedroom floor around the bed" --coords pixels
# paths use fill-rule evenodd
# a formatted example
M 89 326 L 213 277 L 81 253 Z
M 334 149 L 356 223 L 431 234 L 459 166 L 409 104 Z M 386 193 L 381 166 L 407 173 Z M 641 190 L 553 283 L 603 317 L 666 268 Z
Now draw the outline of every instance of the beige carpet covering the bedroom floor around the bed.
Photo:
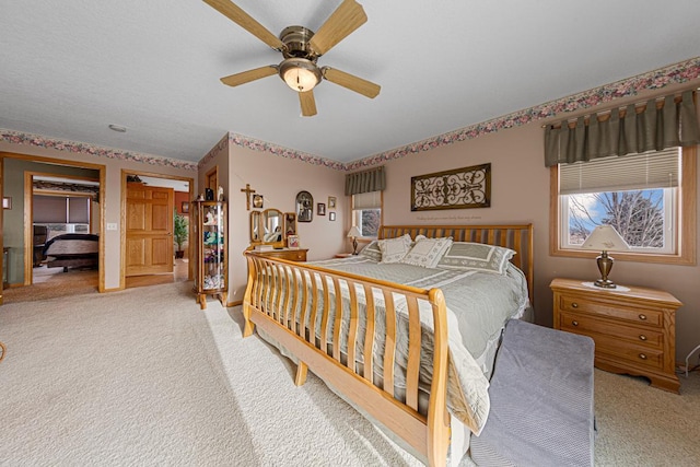
M 418 465 L 190 287 L 0 307 L 0 465 Z M 596 465 L 698 464 L 698 373 L 680 396 L 595 377 Z

